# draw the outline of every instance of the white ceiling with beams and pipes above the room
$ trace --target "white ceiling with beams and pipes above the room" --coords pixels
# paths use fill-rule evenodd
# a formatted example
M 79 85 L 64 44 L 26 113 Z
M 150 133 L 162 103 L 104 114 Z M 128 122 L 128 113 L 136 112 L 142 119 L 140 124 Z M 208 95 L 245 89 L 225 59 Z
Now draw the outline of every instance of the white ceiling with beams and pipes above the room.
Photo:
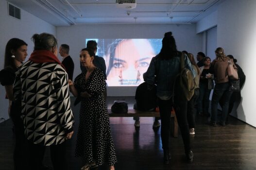
M 54 26 L 69 26 L 196 23 L 224 0 L 134 0 L 135 3 L 123 4 L 117 4 L 117 0 L 7 1 Z

